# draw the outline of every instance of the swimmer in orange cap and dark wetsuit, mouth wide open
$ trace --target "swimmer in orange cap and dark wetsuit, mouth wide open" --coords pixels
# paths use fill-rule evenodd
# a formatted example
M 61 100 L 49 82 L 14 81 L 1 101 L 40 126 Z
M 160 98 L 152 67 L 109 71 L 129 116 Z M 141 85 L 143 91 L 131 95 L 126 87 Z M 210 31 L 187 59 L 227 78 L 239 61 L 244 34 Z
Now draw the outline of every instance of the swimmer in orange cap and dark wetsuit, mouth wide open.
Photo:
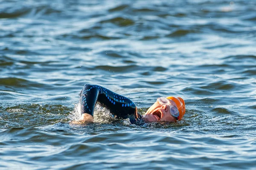
M 159 97 L 142 116 L 128 97 L 114 93 L 100 85 L 86 84 L 80 93 L 81 118 L 73 124 L 93 122 L 96 103 L 107 108 L 116 118 L 137 122 L 177 122 L 185 114 L 185 102 L 180 97 Z

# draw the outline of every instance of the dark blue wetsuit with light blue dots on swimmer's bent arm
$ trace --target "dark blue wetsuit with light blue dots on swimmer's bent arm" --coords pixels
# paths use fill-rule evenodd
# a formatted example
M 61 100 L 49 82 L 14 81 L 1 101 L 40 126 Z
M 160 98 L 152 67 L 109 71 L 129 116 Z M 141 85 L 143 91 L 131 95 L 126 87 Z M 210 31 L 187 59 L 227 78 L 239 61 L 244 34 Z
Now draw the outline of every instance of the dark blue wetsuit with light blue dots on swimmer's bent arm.
M 137 107 L 131 99 L 116 94 L 100 85 L 84 85 L 80 94 L 81 114 L 93 116 L 96 103 L 107 108 L 119 119 L 130 119 L 132 124 L 139 122 L 142 116 L 137 113 Z

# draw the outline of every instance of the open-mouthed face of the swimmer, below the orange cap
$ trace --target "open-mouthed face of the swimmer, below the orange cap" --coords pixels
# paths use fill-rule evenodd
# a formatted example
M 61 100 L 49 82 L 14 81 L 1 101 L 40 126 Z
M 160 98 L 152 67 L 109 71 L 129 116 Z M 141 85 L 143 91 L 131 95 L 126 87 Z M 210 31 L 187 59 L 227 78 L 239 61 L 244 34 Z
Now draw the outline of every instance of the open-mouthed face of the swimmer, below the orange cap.
M 170 110 L 177 108 L 176 103 L 169 100 L 168 104 L 160 104 L 160 102 L 155 102 L 148 111 L 143 115 L 145 122 L 177 122 L 174 116 L 172 116 Z

